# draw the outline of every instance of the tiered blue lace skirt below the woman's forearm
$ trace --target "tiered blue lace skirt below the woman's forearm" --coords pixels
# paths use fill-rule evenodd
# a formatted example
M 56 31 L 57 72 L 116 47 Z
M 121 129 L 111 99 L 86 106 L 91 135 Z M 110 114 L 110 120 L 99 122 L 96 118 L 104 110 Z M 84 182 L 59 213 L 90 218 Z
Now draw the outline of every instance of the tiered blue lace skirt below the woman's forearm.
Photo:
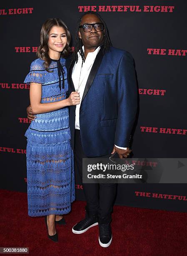
M 68 109 L 39 114 L 27 129 L 28 215 L 63 215 L 75 200 Z

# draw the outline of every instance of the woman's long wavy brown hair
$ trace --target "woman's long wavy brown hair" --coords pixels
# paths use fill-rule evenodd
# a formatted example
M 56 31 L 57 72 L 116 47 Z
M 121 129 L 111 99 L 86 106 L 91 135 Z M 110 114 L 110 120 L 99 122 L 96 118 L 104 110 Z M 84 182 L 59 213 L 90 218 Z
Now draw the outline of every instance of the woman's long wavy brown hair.
M 43 23 L 42 29 L 40 32 L 40 46 L 37 49 L 37 57 L 45 61 L 44 66 L 47 72 L 50 72 L 49 66 L 51 64 L 51 59 L 48 54 L 49 48 L 47 46 L 47 42 L 49 40 L 50 30 L 54 26 L 64 28 L 67 36 L 67 44 L 64 50 L 62 51 L 61 56 L 67 57 L 70 54 L 70 52 L 72 52 L 72 49 L 70 48 L 71 35 L 65 23 L 60 18 L 50 18 L 46 20 L 45 23 Z

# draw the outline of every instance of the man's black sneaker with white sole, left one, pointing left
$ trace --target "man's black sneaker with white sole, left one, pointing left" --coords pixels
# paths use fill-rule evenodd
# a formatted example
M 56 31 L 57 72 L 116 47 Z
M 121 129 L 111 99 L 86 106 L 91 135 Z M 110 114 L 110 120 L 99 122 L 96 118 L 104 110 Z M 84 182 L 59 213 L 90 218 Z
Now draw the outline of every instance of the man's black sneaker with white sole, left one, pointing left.
M 74 234 L 82 234 L 85 233 L 89 228 L 92 228 L 96 225 L 98 225 L 96 215 L 93 215 L 90 218 L 86 217 L 85 219 L 78 222 L 75 226 L 73 226 L 72 232 Z

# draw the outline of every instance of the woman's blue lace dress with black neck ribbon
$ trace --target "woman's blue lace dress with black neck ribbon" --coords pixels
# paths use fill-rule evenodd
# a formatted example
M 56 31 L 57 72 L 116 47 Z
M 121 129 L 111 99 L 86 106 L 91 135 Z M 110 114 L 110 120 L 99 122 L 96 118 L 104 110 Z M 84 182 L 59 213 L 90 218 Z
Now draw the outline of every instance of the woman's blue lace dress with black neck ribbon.
M 41 103 L 66 98 L 65 59 L 52 60 L 47 72 L 44 61 L 32 62 L 24 83 L 42 84 Z M 63 215 L 75 200 L 73 152 L 70 146 L 68 108 L 37 114 L 27 129 L 28 215 Z

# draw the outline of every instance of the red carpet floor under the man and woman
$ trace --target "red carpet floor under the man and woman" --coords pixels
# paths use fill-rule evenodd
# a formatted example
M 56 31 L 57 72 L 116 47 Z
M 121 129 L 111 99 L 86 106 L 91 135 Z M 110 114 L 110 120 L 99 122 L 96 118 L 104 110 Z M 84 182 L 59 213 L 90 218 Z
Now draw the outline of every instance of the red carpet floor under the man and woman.
M 0 206 L 0 247 L 29 247 L 29 255 L 187 255 L 187 213 L 115 206 L 112 244 L 102 248 L 98 226 L 81 235 L 71 231 L 85 202 L 74 202 L 67 225 L 57 226 L 58 243 L 47 238 L 43 217 L 27 215 L 26 193 L 0 190 Z

